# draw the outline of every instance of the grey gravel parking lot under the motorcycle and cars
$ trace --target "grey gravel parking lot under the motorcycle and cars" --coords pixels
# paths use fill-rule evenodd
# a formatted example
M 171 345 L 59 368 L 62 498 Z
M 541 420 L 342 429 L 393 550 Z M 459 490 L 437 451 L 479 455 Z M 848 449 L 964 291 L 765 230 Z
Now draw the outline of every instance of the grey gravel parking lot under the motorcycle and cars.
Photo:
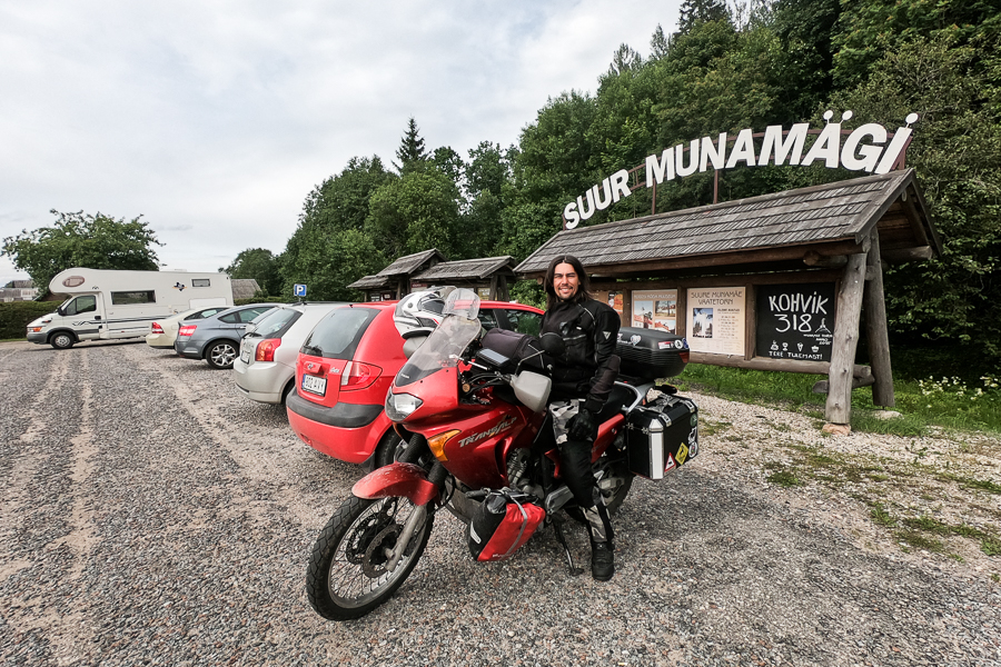
M 713 432 L 636 481 L 607 584 L 568 576 L 552 531 L 476 564 L 443 512 L 396 597 L 334 624 L 306 564 L 360 469 L 299 442 L 284 408 L 143 344 L 2 344 L 0 385 L 2 665 L 1001 664 L 1001 557 L 904 550 L 850 489 L 766 481 L 776 438 L 819 438 L 800 415 L 696 396 Z M 1001 481 L 998 444 L 979 451 L 973 472 Z M 941 492 L 914 502 L 1001 511 Z

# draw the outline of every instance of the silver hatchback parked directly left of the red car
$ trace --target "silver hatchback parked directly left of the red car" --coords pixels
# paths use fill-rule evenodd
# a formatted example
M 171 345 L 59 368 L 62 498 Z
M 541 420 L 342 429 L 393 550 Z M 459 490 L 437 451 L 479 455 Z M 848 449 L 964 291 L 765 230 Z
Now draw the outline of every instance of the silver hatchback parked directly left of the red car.
M 232 362 L 234 380 L 245 396 L 283 404 L 296 386 L 296 359 L 303 341 L 324 316 L 343 302 L 285 303 L 247 329 Z

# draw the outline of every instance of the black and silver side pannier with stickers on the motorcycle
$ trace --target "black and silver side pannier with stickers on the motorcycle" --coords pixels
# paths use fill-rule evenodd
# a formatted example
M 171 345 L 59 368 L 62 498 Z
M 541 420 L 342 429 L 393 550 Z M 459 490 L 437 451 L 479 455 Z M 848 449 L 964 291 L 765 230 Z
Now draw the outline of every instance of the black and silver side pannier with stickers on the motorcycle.
M 630 470 L 663 479 L 698 454 L 698 408 L 683 396 L 660 396 L 630 412 L 625 436 Z

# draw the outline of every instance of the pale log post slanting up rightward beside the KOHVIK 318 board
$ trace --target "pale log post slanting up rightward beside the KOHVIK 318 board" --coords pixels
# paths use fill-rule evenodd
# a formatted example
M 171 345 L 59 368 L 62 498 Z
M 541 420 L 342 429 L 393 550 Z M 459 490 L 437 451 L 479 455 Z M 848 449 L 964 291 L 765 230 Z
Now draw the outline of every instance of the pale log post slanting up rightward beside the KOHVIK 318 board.
M 830 391 L 824 418 L 830 424 L 851 424 L 852 368 L 859 346 L 859 322 L 862 318 L 862 292 L 865 287 L 868 252 L 850 255 L 838 292 L 834 345 L 831 350 Z

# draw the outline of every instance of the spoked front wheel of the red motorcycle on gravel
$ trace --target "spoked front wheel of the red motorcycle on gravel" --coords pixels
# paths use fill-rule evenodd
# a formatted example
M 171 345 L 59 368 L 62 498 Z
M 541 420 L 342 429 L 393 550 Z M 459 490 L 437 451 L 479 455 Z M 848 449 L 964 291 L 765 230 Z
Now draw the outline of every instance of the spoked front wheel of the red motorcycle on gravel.
M 313 547 L 306 595 L 317 614 L 330 620 L 365 616 L 386 600 L 410 575 L 430 537 L 434 515 L 414 530 L 396 568 L 388 551 L 418 508 L 406 498 L 369 500 L 351 497 L 330 517 Z

